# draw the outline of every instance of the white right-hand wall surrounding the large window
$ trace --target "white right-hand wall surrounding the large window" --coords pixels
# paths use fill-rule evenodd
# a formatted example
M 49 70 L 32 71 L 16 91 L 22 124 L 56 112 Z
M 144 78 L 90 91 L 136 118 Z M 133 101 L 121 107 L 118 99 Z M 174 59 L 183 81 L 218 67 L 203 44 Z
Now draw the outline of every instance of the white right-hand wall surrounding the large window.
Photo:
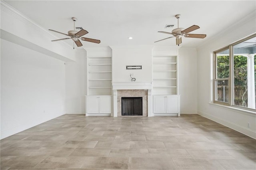
M 255 11 L 244 18 L 238 18 L 238 21 L 236 24 L 230 26 L 230 28 L 227 28 L 227 30 L 224 30 L 222 34 L 216 35 L 214 39 L 209 40 L 202 47 L 198 48 L 198 114 L 256 138 L 255 113 L 238 111 L 211 104 L 213 99 L 213 51 L 240 40 L 245 36 L 255 34 Z M 251 128 L 247 128 L 247 123 L 250 123 Z

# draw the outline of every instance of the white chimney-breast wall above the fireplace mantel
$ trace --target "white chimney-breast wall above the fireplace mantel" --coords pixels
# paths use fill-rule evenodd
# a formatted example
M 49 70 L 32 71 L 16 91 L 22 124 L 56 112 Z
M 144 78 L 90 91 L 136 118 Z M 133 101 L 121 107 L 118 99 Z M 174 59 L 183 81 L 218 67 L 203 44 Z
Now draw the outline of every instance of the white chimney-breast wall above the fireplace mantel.
M 111 48 L 113 82 L 131 82 L 130 73 L 136 82 L 152 81 L 152 46 Z M 142 69 L 126 69 L 126 65 L 142 65 Z

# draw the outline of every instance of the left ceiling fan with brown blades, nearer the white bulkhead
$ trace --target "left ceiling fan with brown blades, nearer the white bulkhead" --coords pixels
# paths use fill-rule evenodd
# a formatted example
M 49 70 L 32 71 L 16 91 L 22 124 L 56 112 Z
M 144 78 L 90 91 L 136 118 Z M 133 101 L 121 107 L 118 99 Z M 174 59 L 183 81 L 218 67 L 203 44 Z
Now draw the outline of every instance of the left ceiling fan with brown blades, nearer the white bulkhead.
M 80 42 L 80 40 L 83 40 L 83 41 L 86 41 L 86 42 L 100 43 L 100 40 L 95 40 L 95 39 L 92 39 L 92 38 L 82 37 L 85 34 L 88 34 L 88 31 L 84 30 L 83 28 L 80 31 L 75 30 L 75 22 L 77 21 L 77 19 L 72 17 L 72 20 L 74 21 L 74 30 L 68 31 L 68 34 L 64 34 L 62 32 L 58 32 L 58 31 L 54 31 L 54 30 L 50 30 L 50 31 L 53 31 L 53 32 L 57 32 L 59 34 L 63 34 L 65 36 L 69 36 L 70 38 L 62 38 L 62 39 L 58 39 L 58 40 L 52 40 L 52 42 L 72 39 L 78 47 L 82 46 L 82 43 Z

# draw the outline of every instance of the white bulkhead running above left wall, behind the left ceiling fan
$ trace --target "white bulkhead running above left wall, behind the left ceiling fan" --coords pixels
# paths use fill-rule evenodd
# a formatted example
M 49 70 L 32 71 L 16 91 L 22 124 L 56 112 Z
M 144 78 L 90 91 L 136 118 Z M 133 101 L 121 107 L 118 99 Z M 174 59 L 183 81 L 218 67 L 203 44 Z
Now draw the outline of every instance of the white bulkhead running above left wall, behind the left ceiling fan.
M 42 28 L 30 18 L 0 1 L 1 39 L 22 45 L 62 61 L 74 61 L 74 50 L 65 41 L 58 39 L 52 32 Z

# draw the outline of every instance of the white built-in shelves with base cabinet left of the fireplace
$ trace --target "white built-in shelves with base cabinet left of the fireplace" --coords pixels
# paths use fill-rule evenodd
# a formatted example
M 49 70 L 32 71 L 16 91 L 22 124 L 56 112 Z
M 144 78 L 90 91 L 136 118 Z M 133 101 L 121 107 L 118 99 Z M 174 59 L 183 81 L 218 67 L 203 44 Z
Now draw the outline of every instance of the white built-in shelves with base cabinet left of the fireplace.
M 110 48 L 86 49 L 86 116 L 112 113 L 112 51 Z

